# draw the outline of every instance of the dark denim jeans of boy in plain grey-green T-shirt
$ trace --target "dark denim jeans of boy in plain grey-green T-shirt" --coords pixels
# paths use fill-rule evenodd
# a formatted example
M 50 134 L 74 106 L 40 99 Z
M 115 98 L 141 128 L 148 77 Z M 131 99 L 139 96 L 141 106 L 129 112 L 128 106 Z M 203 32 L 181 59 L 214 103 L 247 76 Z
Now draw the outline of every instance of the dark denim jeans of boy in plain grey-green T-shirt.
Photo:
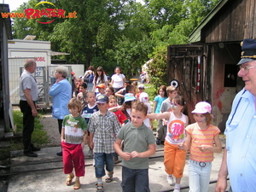
M 129 169 L 122 167 L 123 192 L 149 192 L 148 169 Z

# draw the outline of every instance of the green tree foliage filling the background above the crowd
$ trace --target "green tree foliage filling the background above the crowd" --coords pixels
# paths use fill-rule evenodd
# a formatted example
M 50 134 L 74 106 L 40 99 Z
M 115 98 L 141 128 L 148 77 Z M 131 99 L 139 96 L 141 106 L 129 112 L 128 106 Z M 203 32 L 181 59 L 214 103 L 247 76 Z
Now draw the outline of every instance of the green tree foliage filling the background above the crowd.
M 23 3 L 16 12 L 34 8 L 40 0 Z M 76 11 L 77 18 L 55 18 L 50 24 L 15 18 L 13 37 L 36 35 L 51 42 L 57 56 L 85 67 L 102 66 L 108 75 L 119 66 L 130 78 L 149 59 L 154 86 L 166 83 L 166 47 L 188 44 L 189 34 L 220 0 L 49 0 L 56 9 Z M 50 8 L 42 3 L 37 9 Z M 48 20 L 41 18 L 40 20 Z

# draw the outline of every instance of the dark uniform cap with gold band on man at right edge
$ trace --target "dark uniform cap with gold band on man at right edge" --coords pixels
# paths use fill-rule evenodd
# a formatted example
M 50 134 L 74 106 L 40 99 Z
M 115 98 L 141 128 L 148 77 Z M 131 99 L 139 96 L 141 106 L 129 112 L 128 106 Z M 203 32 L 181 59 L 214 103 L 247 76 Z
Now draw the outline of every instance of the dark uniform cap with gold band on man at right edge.
M 244 39 L 241 42 L 241 60 L 237 65 L 256 61 L 256 39 Z

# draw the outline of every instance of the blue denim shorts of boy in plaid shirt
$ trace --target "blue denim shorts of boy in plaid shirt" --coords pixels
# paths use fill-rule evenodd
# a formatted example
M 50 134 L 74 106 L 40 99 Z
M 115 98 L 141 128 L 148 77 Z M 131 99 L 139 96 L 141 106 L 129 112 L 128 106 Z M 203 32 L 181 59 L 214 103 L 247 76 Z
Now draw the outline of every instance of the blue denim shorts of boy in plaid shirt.
M 113 156 L 114 153 L 105 154 L 105 153 L 95 153 L 95 174 L 96 177 L 103 177 L 106 175 L 104 164 L 106 163 L 106 170 L 108 172 L 113 172 Z

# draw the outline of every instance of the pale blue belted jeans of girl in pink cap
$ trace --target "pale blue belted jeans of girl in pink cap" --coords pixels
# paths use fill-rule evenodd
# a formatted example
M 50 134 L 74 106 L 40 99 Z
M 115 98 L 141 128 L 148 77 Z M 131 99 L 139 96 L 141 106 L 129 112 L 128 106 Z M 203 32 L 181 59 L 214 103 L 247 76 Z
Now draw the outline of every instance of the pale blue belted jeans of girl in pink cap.
M 208 191 L 212 162 L 189 160 L 189 192 Z

